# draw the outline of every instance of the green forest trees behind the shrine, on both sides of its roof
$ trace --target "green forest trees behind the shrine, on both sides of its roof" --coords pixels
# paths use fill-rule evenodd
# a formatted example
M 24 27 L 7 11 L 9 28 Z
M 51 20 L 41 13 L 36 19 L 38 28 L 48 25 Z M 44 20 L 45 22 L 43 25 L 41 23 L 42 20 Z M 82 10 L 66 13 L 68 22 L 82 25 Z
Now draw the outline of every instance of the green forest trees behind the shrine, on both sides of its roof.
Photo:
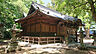
M 0 23 L 4 24 L 2 33 L 4 38 L 10 38 L 10 29 L 15 24 L 15 19 L 27 15 L 32 1 L 37 0 L 0 0 Z M 44 5 L 43 0 L 39 4 Z M 51 3 L 44 5 L 62 14 L 73 16 L 82 20 L 85 24 L 85 31 L 89 36 L 90 28 L 96 21 L 96 0 L 51 0 Z M 17 24 L 17 28 L 20 25 Z

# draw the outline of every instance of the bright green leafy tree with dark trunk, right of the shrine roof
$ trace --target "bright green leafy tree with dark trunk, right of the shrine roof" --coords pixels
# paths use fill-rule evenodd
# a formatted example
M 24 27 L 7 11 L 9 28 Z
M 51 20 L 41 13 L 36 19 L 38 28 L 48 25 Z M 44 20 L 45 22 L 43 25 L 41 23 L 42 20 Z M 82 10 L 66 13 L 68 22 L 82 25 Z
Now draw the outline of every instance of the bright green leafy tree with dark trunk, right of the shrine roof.
M 96 20 L 96 0 L 52 0 L 52 4 L 62 14 L 81 19 L 89 37 L 91 22 Z

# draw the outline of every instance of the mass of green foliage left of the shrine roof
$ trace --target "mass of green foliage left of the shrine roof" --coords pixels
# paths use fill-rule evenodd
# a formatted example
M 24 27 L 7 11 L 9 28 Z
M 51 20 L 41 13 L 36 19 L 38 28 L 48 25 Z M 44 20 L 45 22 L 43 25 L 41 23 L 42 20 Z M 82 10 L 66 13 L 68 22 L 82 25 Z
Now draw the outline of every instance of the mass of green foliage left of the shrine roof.
M 11 38 L 10 29 L 15 24 L 14 20 L 27 14 L 31 3 L 32 0 L 0 0 L 0 23 L 4 24 L 4 38 Z M 17 28 L 20 28 L 19 24 Z

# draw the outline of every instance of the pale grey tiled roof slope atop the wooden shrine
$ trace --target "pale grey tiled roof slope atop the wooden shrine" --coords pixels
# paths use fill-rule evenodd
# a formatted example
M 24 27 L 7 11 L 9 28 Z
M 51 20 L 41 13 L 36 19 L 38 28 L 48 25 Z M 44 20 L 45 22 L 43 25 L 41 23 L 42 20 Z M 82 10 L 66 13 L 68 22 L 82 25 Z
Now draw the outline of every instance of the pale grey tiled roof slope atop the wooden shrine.
M 41 12 L 43 12 L 46 15 L 62 18 L 63 20 L 70 20 L 70 21 L 77 21 L 78 20 L 77 18 L 68 16 L 68 15 L 62 15 L 61 13 L 59 13 L 55 10 L 52 10 L 52 9 L 47 8 L 45 6 L 42 6 L 42 5 L 40 5 L 36 2 L 33 2 L 33 1 L 32 1 L 32 5 L 31 5 L 31 8 L 29 10 L 28 15 L 30 15 L 31 13 L 33 13 L 37 9 L 40 10 Z

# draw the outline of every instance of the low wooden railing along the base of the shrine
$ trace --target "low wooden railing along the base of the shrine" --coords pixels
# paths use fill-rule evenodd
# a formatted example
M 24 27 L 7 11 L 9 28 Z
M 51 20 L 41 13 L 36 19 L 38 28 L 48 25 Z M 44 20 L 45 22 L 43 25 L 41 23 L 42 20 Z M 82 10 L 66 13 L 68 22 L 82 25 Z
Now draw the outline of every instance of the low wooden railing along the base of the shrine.
M 24 42 L 29 42 L 33 44 L 49 44 L 49 43 L 60 43 L 62 42 L 61 37 L 30 37 L 22 36 Z

